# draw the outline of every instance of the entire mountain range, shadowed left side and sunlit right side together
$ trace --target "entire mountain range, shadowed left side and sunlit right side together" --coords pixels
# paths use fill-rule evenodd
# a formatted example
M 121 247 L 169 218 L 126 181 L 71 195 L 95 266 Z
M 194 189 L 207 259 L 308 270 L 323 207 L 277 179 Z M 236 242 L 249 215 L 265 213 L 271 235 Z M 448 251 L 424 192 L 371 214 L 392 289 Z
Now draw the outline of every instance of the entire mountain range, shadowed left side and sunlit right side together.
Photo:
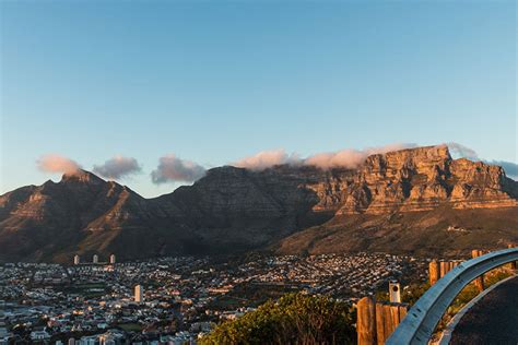
M 71 262 L 247 251 L 433 255 L 518 241 L 518 182 L 448 147 L 367 157 L 357 169 L 213 168 L 144 199 L 81 170 L 0 197 L 0 261 Z

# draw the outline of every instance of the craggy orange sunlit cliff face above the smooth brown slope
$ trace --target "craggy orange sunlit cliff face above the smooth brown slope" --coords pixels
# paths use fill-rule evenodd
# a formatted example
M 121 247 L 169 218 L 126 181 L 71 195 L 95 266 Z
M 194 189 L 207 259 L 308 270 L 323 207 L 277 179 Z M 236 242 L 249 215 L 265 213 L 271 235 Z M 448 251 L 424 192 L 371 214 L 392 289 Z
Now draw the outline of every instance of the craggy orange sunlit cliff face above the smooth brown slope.
M 501 167 L 452 159 L 447 146 L 429 146 L 369 156 L 335 200 L 338 214 L 507 207 L 518 205 L 516 186 Z

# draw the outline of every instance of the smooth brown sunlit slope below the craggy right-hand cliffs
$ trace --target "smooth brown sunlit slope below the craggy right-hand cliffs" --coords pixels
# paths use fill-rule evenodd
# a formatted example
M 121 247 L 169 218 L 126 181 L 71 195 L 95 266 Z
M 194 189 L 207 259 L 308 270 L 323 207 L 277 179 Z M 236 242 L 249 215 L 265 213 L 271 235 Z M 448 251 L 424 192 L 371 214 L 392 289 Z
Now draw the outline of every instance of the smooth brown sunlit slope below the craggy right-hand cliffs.
M 518 207 L 395 212 L 337 216 L 291 235 L 272 249 L 281 254 L 374 251 L 428 257 L 469 254 L 471 249 L 518 242 Z

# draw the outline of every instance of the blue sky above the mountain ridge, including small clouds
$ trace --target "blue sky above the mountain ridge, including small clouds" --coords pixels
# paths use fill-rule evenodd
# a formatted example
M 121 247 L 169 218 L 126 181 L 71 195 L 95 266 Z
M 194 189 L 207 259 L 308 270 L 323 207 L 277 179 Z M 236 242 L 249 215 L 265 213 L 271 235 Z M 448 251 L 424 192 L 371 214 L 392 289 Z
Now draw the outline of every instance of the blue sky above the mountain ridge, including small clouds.
M 0 11 L 0 193 L 81 166 L 156 197 L 261 152 L 455 142 L 518 163 L 515 1 Z

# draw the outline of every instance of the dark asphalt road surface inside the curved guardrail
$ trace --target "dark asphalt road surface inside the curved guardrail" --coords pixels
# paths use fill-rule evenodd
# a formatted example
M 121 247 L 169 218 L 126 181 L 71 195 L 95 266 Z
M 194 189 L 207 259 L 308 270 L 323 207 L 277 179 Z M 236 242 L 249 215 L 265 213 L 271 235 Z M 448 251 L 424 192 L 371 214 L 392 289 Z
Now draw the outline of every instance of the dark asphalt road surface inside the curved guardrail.
M 518 277 L 490 292 L 460 319 L 451 345 L 518 344 Z

